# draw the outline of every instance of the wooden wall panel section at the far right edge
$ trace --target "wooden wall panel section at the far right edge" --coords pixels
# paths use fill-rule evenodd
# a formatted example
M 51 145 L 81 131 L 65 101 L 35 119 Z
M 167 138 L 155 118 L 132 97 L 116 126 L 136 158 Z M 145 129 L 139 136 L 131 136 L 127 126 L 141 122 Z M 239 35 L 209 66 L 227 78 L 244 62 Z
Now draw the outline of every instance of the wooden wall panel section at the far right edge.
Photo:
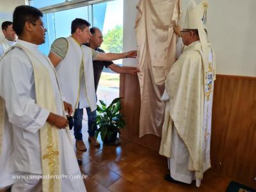
M 235 79 L 232 107 L 228 118 L 223 174 L 256 186 L 256 81 Z

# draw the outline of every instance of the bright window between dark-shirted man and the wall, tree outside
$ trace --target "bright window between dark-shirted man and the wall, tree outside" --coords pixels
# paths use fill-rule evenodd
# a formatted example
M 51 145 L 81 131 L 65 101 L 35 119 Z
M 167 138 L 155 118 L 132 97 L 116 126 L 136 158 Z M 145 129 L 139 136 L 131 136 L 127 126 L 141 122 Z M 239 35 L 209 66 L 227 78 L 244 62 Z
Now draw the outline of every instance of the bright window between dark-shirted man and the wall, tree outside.
M 100 49 L 105 52 L 123 52 L 123 0 L 94 4 L 93 26 L 100 28 L 104 36 Z M 122 60 L 116 60 L 114 63 L 122 65 Z M 119 97 L 119 80 L 119 74 L 104 68 L 97 90 L 98 99 L 110 104 L 113 99 Z

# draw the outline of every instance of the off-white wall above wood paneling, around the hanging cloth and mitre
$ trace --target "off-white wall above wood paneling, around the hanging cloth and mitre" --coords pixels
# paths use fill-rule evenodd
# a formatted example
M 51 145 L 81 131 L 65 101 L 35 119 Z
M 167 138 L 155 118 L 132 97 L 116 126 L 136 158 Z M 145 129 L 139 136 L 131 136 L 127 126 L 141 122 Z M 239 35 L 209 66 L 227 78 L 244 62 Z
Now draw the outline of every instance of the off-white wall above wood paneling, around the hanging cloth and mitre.
M 134 21 L 138 2 L 124 0 L 124 51 L 136 49 Z M 182 0 L 184 10 L 187 3 Z M 209 0 L 208 31 L 216 52 L 217 74 L 256 77 L 255 8 L 255 0 Z M 124 65 L 136 66 L 136 60 L 124 60 Z

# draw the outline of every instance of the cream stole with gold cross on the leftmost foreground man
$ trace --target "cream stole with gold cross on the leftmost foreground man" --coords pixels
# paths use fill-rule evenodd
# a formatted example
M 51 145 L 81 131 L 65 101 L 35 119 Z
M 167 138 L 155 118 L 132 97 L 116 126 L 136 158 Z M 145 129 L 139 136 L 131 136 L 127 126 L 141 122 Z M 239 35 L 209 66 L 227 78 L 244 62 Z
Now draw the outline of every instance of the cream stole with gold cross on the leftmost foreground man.
M 36 104 L 52 113 L 57 113 L 54 90 L 51 86 L 52 82 L 51 77 L 49 76 L 49 71 L 43 64 L 40 64 L 41 61 L 38 60 L 33 53 L 29 52 L 28 49 L 19 44 L 16 44 L 14 47 L 22 49 L 31 61 L 35 79 Z M 47 60 L 46 57 L 45 59 Z M 47 61 L 49 66 L 52 67 L 51 62 L 49 60 Z M 56 75 L 53 67 L 52 70 Z M 56 177 L 60 175 L 60 149 L 59 130 L 55 126 L 45 122 L 44 126 L 40 129 L 40 146 L 43 176 L 42 189 L 44 192 L 61 191 L 61 180 Z

